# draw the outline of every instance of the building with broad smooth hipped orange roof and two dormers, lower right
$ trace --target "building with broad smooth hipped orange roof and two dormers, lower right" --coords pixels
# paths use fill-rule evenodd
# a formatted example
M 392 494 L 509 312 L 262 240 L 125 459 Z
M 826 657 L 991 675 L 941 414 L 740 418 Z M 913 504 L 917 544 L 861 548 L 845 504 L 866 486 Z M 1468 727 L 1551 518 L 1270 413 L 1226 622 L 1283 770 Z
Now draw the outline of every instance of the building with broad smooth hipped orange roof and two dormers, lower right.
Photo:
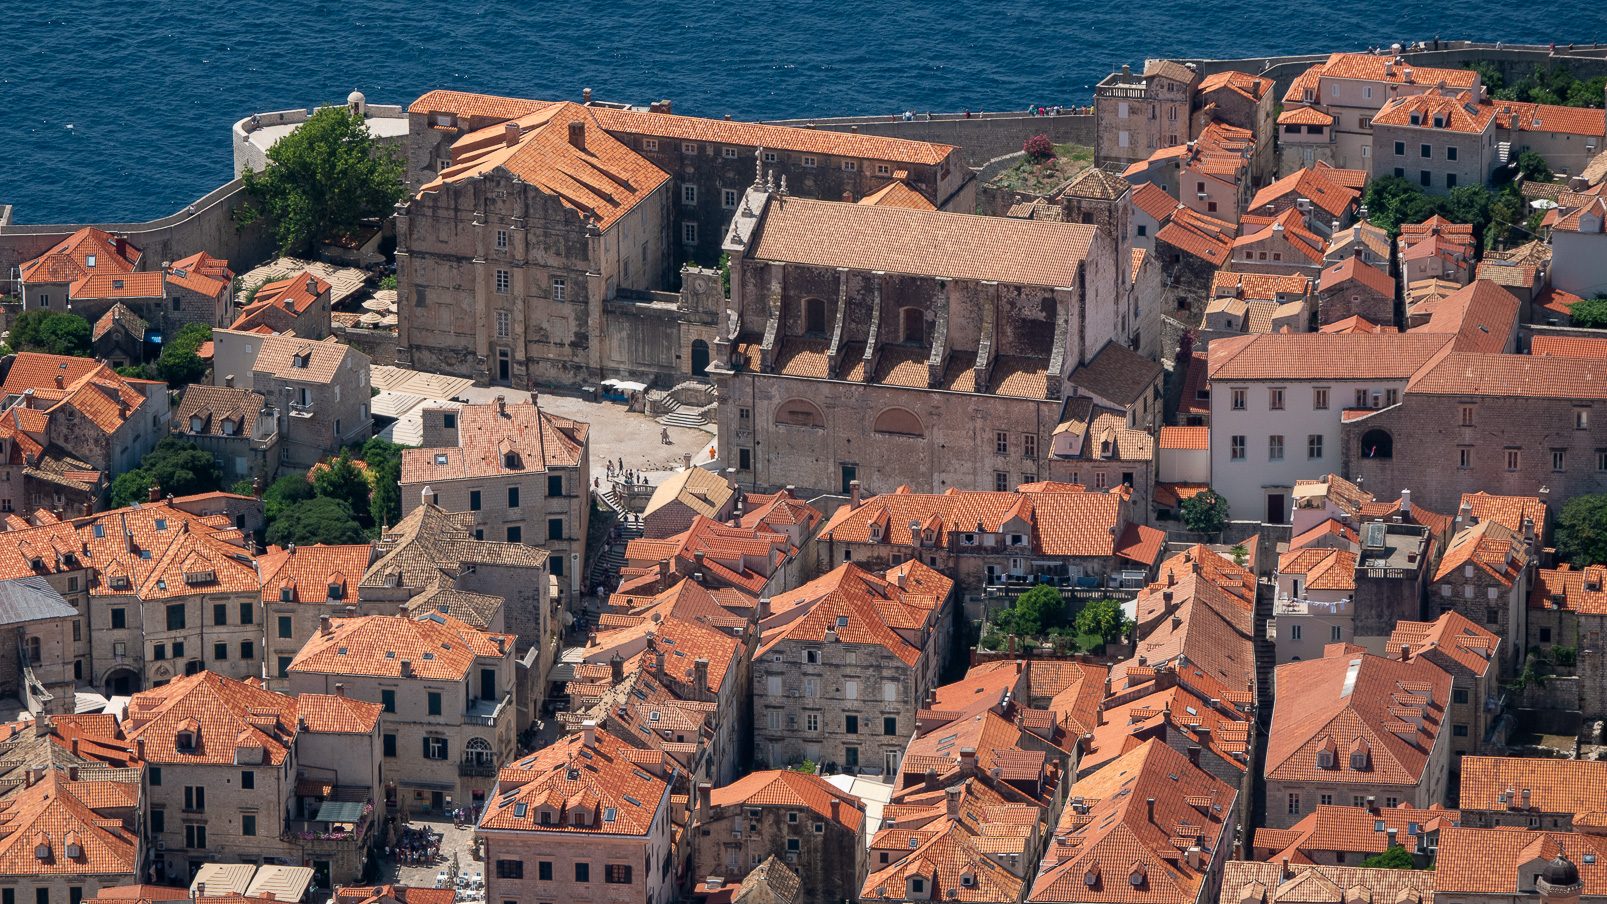
M 1332 644 L 1278 666 L 1266 740 L 1265 825 L 1289 829 L 1321 804 L 1424 809 L 1445 800 L 1451 676 Z

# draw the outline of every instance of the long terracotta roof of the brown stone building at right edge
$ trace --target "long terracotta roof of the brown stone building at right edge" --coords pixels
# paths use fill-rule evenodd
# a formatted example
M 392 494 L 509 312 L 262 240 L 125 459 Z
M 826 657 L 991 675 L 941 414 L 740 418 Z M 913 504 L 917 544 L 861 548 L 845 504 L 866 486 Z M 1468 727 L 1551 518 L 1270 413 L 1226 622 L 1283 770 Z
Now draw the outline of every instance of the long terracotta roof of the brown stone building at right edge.
M 1408 392 L 1607 400 L 1607 361 L 1456 352 L 1425 368 L 1408 384 Z

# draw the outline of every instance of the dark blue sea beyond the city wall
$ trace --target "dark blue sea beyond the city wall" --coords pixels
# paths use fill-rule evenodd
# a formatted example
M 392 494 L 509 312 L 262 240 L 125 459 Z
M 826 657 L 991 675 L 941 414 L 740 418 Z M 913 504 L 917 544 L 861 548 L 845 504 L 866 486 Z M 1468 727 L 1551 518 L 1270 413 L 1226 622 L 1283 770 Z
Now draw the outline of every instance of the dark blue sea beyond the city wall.
M 432 88 L 736 119 L 1086 103 L 1114 66 L 1445 39 L 1607 39 L 1602 0 L 0 2 L 0 204 L 24 223 L 172 214 L 256 111 Z

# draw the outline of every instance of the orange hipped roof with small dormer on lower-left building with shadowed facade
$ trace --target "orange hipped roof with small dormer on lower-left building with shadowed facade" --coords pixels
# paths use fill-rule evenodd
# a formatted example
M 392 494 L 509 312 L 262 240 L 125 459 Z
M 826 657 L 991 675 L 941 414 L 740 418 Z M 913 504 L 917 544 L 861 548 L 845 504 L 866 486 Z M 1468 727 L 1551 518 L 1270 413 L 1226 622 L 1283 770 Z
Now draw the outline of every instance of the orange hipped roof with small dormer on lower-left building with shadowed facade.
M 296 743 L 296 698 L 211 671 L 175 678 L 133 695 L 125 721 L 130 742 L 145 742 L 153 764 L 280 766 Z M 180 747 L 183 732 L 191 747 Z M 260 750 L 257 759 L 241 748 Z

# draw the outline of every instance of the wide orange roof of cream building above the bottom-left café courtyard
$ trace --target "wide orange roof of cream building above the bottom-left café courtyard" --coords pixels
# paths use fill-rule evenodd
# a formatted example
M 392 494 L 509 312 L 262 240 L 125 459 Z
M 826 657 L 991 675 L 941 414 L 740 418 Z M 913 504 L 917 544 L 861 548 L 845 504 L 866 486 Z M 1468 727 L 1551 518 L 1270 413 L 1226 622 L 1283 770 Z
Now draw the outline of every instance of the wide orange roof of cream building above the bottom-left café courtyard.
M 477 658 L 511 655 L 514 641 L 513 634 L 479 631 L 440 613 L 333 618 L 329 628 L 302 645 L 289 671 L 400 678 L 405 663 L 416 679 L 461 681 Z

